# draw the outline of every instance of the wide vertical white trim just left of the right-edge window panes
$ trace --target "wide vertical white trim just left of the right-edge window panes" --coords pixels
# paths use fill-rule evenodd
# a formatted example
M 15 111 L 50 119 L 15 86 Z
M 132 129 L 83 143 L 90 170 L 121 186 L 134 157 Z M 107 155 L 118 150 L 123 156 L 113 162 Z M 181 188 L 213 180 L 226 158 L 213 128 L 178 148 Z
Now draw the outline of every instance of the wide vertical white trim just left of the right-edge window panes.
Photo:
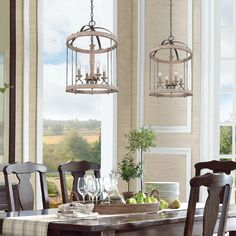
M 219 45 L 215 14 L 219 0 L 201 0 L 201 155 L 200 161 L 219 159 Z M 216 82 L 216 80 L 218 80 Z

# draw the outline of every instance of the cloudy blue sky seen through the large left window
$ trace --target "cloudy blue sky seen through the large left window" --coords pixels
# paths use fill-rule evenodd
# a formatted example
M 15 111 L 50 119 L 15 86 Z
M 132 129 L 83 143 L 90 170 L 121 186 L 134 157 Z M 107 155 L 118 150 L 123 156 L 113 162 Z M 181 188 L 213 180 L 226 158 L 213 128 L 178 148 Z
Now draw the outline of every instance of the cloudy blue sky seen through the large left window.
M 112 2 L 94 0 L 96 26 L 111 31 Z M 43 0 L 43 109 L 46 119 L 101 119 L 102 95 L 65 92 L 66 38 L 89 21 L 89 0 Z

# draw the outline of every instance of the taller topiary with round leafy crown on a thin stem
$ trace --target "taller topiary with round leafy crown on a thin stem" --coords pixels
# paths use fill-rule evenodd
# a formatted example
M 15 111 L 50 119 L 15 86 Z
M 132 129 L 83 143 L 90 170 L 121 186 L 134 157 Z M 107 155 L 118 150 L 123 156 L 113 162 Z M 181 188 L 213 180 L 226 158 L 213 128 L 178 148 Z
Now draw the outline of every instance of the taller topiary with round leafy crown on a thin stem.
M 146 152 L 150 147 L 154 147 L 155 135 L 149 128 L 140 128 L 131 130 L 127 135 L 128 145 L 126 149 L 129 151 L 129 155 L 133 156 L 137 151 L 140 153 L 140 183 L 141 191 L 143 191 L 143 152 Z

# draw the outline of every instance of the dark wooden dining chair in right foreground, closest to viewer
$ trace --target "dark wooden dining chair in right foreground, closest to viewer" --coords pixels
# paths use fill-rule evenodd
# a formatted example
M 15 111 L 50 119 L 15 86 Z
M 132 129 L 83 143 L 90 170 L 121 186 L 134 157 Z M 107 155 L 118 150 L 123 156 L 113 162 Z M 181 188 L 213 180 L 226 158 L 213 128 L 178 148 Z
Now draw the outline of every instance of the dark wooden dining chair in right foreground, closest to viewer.
M 233 177 L 225 173 L 207 173 L 193 177 L 190 180 L 190 196 L 188 201 L 187 217 L 184 236 L 192 236 L 198 190 L 200 186 L 208 189 L 208 197 L 203 211 L 203 236 L 212 236 L 217 222 L 219 209 L 221 212 L 217 236 L 225 235 L 225 225 L 228 214 L 231 186 Z M 224 187 L 224 199 L 220 208 L 220 192 Z M 200 233 L 199 233 L 200 234 Z

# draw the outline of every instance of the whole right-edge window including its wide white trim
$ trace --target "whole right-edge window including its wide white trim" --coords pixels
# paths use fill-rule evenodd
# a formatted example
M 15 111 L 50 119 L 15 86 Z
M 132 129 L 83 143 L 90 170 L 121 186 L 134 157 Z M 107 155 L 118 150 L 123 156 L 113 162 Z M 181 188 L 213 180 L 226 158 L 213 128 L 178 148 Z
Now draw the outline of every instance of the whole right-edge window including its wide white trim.
M 236 161 L 236 3 L 202 1 L 202 12 L 201 159 Z

